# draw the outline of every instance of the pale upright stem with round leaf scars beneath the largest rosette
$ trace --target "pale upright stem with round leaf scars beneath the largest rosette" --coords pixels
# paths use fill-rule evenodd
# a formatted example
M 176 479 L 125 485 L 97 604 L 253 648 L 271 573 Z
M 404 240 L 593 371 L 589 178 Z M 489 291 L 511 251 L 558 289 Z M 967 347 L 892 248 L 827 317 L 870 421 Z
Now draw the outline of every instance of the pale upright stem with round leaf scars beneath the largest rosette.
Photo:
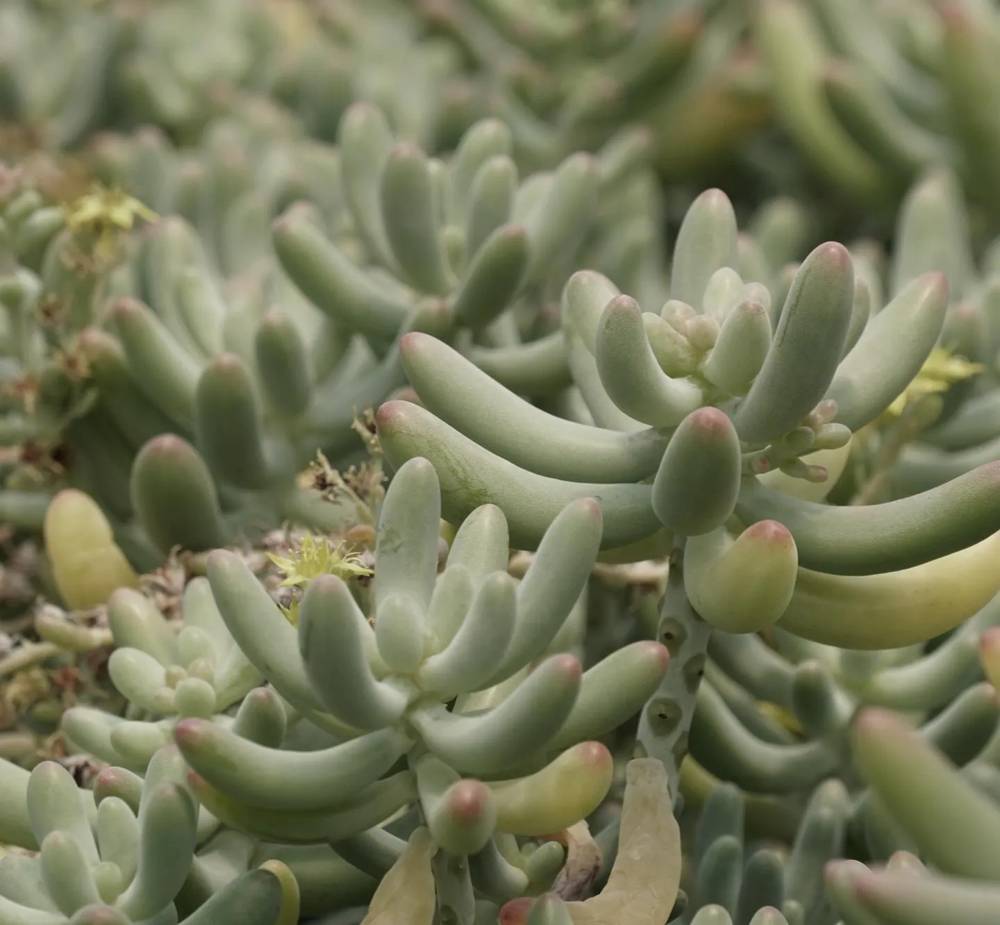
M 639 718 L 640 750 L 667 768 L 675 802 L 680 794 L 680 766 L 687 754 L 698 687 L 705 673 L 712 627 L 691 606 L 684 590 L 684 548 L 670 557 L 667 590 L 660 608 L 657 639 L 670 650 L 670 666 Z

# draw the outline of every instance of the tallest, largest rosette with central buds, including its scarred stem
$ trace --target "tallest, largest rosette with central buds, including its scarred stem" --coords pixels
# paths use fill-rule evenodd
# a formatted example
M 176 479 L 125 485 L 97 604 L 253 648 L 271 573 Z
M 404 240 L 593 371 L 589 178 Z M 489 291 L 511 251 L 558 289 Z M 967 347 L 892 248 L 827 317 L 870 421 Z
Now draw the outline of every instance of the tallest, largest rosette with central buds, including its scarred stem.
M 956 627 L 1000 589 L 988 565 L 1000 542 L 995 464 L 885 503 L 826 500 L 852 435 L 938 346 L 944 275 L 902 274 L 884 303 L 865 250 L 827 242 L 770 279 L 751 250 L 741 262 L 732 206 L 713 190 L 684 219 L 659 312 L 599 274 L 573 275 L 563 336 L 582 406 L 570 417 L 423 333 L 401 341 L 420 405 L 389 402 L 377 416 L 390 465 L 435 464 L 447 519 L 488 499 L 530 549 L 563 505 L 596 496 L 607 556 L 672 554 L 658 638 L 674 657 L 640 736 L 675 768 L 714 631 L 777 624 L 893 648 Z

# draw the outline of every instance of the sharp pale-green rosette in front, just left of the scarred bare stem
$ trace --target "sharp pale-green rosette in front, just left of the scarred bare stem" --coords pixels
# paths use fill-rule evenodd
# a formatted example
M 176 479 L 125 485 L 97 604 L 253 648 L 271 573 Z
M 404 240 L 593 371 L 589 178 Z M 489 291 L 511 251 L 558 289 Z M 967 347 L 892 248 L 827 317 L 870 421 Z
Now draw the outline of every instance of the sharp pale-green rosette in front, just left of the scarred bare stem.
M 429 463 L 396 472 L 366 589 L 374 625 L 335 574 L 306 584 L 293 625 L 237 555 L 211 553 L 208 587 L 262 689 L 318 733 L 304 751 L 253 741 L 239 718 L 192 717 L 174 738 L 194 792 L 224 825 L 272 843 L 329 842 L 379 877 L 407 835 L 381 824 L 419 807 L 442 857 L 439 902 L 464 908 L 469 896 L 503 902 L 555 876 L 557 844 L 528 855 L 517 839 L 563 830 L 601 803 L 612 758 L 595 739 L 649 695 L 666 650 L 640 641 L 586 672 L 559 651 L 600 542 L 593 499 L 567 506 L 520 582 L 491 505 L 460 526 L 439 573 L 440 503 Z M 317 747 L 317 735 L 334 744 Z

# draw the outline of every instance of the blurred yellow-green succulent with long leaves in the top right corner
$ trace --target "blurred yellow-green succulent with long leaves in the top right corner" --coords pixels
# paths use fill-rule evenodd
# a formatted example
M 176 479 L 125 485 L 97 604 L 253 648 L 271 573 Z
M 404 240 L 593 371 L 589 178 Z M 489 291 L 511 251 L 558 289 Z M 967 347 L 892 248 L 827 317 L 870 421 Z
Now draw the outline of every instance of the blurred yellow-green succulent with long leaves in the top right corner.
M 928 168 L 951 169 L 995 231 L 996 29 L 969 0 L 765 0 L 752 41 L 774 116 L 827 182 L 889 210 Z

